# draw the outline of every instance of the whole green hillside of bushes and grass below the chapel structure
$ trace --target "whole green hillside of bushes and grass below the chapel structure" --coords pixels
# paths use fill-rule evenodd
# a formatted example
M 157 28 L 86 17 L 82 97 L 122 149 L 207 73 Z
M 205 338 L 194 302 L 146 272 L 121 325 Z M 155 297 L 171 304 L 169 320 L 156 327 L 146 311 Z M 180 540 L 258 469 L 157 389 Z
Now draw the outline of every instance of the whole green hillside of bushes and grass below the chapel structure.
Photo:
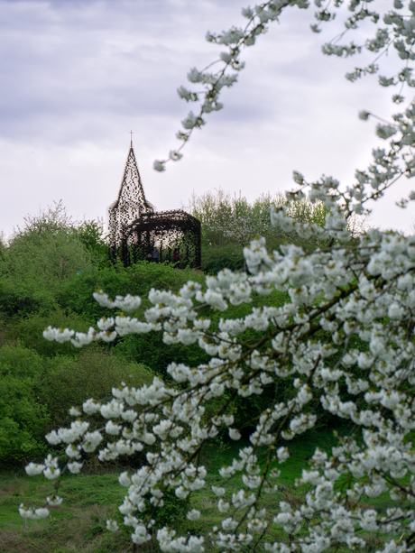
M 203 283 L 204 274 L 189 268 L 180 270 L 168 263 L 142 262 L 127 269 L 109 266 L 99 236 L 91 242 L 87 231 L 86 235 L 74 233 L 70 226 L 62 226 L 60 222 L 58 232 L 51 222 L 49 225 L 32 226 L 16 235 L 7 247 L 0 248 L 0 464 L 3 467 L 0 551 L 132 550 L 127 530 L 110 534 L 105 527 L 107 518 L 120 519 L 116 505 L 122 502 L 124 490 L 117 482 L 117 474 L 121 469 L 134 470 L 140 466 L 144 454 L 130 458 L 125 465 L 102 465 L 97 456 L 88 456 L 85 474 L 63 477 L 60 494 L 65 502 L 52 509 L 51 518 L 27 521 L 26 525 L 18 514 L 19 505 L 22 502 L 27 506 L 40 505 L 45 495 L 54 490 L 51 482 L 26 476 L 23 466 L 29 461 L 41 460 L 49 451 L 53 450 L 55 455 L 60 453 L 59 448 L 52 449 L 47 444 L 44 435 L 69 423 L 72 405 L 79 406 L 89 397 L 106 400 L 112 387 L 122 381 L 140 386 L 152 382 L 154 375 L 168 379 L 166 367 L 171 362 L 196 366 L 208 362 L 208 355 L 197 344 L 167 347 L 161 332 L 117 337 L 113 343 L 94 344 L 79 350 L 68 343 L 48 342 L 42 337 L 42 331 L 48 325 L 86 331 L 98 318 L 113 315 L 113 311 L 100 308 L 93 300 L 95 290 L 105 290 L 111 296 L 140 295 L 143 304 L 133 313 L 140 318 L 143 310 L 150 307 L 149 290 L 178 291 L 189 280 Z M 239 249 L 234 245 L 204 244 L 206 271 L 217 272 L 229 265 L 240 269 L 242 245 Z M 276 290 L 267 297 L 254 295 L 252 304 L 230 306 L 225 316 L 242 318 L 253 308 L 281 306 L 288 300 L 287 294 Z M 213 329 L 224 317 L 224 313 L 208 309 L 201 309 L 200 314 L 211 318 Z M 252 342 L 259 336 L 261 333 L 251 329 L 241 337 Z M 327 334 L 327 341 L 330 338 Z M 355 346 L 362 350 L 366 347 L 357 341 Z M 183 516 L 184 504 L 168 497 L 165 507 L 157 513 L 163 524 L 174 523 L 180 531 L 197 533 L 216 524 L 216 499 L 210 485 L 219 482 L 218 469 L 237 455 L 239 447 L 246 445 L 254 419 L 276 399 L 287 399 L 292 392 L 291 378 L 286 378 L 280 380 L 278 390 L 268 387 L 262 395 L 235 399 L 235 424 L 243 429 L 244 438 L 235 443 L 227 434 L 219 434 L 203 450 L 200 461 L 212 469 L 208 488 L 194 493 L 191 499 L 191 505 L 202 512 L 201 520 L 187 521 Z M 215 401 L 211 401 L 206 416 L 215 409 Z M 322 415 L 318 405 L 316 410 Z M 276 509 L 281 500 L 299 502 L 305 490 L 295 487 L 295 479 L 316 445 L 327 448 L 334 443 L 332 423 L 327 415 L 321 416 L 316 430 L 293 444 L 293 455 L 285 465 L 278 490 L 264 499 L 270 512 L 272 505 Z M 239 482 L 231 481 L 229 493 L 234 484 L 236 489 Z M 387 501 L 381 497 L 370 504 L 383 509 Z M 134 550 L 158 549 L 152 543 Z

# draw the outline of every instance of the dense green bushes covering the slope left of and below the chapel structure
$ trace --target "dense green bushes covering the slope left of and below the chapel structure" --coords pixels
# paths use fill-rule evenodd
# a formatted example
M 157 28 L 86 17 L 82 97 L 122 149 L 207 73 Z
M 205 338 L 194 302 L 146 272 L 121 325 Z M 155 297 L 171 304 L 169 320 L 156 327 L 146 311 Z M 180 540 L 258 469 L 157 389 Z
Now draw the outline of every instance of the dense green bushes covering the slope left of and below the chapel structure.
M 61 203 L 26 217 L 0 248 L 2 465 L 47 452 L 44 435 L 66 424 L 70 406 L 85 394 L 104 400 L 122 380 L 150 383 L 153 373 L 145 365 L 164 372 L 172 358 L 189 358 L 183 347 L 171 357 L 161 339 L 151 347 L 143 336 L 82 352 L 44 340 L 44 328 L 88 330 L 102 311 L 92 297 L 97 288 L 179 290 L 193 274 L 170 265 L 110 266 L 99 223 L 72 221 Z

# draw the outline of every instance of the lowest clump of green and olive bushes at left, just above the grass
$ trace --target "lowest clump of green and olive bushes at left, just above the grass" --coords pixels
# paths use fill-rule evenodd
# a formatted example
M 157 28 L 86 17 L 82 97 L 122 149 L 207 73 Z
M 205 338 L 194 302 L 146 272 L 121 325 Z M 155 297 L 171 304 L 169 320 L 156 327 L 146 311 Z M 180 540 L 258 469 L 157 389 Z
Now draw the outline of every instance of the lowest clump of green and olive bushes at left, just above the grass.
M 45 340 L 46 342 L 46 340 Z M 99 346 L 78 358 L 50 359 L 17 344 L 0 348 L 0 461 L 15 463 L 49 449 L 44 435 L 69 422 L 69 409 L 86 396 L 105 400 L 122 381 L 152 382 L 142 364 L 127 363 Z

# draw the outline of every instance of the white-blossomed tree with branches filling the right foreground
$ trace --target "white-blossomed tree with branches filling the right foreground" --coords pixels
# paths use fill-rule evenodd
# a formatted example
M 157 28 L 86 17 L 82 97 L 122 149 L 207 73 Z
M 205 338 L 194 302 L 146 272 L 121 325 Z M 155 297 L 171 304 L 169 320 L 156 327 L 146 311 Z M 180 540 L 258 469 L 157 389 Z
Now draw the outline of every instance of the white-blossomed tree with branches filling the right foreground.
M 313 30 L 317 32 L 319 24 L 334 14 L 319 0 L 316 4 L 318 23 Z M 291 5 L 308 7 L 302 0 L 272 0 L 244 10 L 245 29 L 208 34 L 209 41 L 229 48 L 221 55 L 225 69 L 215 75 L 190 72 L 190 80 L 201 83 L 206 92 L 200 115 L 189 115 L 184 124 L 189 130 L 186 138 L 201 124 L 203 114 L 219 107 L 220 88 L 235 80 L 226 76 L 226 69 L 242 67 L 241 47 L 253 45 L 266 24 Z M 341 5 L 337 0 L 333 9 Z M 394 10 L 382 18 L 370 5 L 352 0 L 346 31 L 366 18 L 378 25 L 374 39 L 365 46 L 376 53 L 397 51 L 403 69 L 390 78 L 381 77 L 380 84 L 398 85 L 393 101 L 401 103 L 401 88 L 415 86 L 410 67 L 415 58 L 415 3 L 394 0 Z M 348 56 L 359 51 L 353 42 L 340 45 L 341 38 L 326 45 L 325 53 Z M 372 63 L 355 69 L 349 78 L 377 70 Z M 196 93 L 182 90 L 180 94 L 189 101 L 198 100 Z M 81 470 L 84 454 L 97 451 L 98 458 L 106 461 L 144 450 L 145 465 L 119 476 L 125 487 L 119 511 L 124 525 L 131 528 L 134 544 L 150 540 L 154 533 L 166 553 L 238 551 L 248 546 L 272 553 L 319 553 L 339 546 L 359 549 L 373 532 L 383 535 L 379 550 L 384 553 L 414 550 L 415 236 L 373 229 L 351 244 L 345 218 L 345 211 L 350 217 L 366 213 L 370 199 L 382 197 L 402 176 L 413 176 L 414 123 L 415 106 L 410 103 L 393 116 L 392 123 L 378 125 L 378 136 L 389 143 L 374 150 L 373 162 L 367 170 L 356 171 L 353 185 L 342 188 L 329 177 L 308 183 L 294 174 L 298 186 L 289 198 L 302 198 L 307 191 L 311 201 L 324 202 L 324 225 L 295 221 L 286 206 L 272 209 L 272 224 L 327 244 L 324 248 L 305 252 L 285 244 L 268 252 L 260 238 L 244 248 L 249 272 L 225 270 L 207 276 L 204 286 L 189 281 L 177 294 L 151 290 L 152 308 L 145 310 L 143 320 L 124 315 L 140 305 L 140 298 L 111 299 L 100 290 L 95 299 L 116 310 L 113 318 L 101 318 L 87 334 L 45 330 L 45 338 L 70 340 L 76 347 L 131 333 L 163 332 L 166 346 L 198 344 L 210 360 L 199 366 L 170 364 L 166 368 L 172 385 L 160 378 L 139 389 L 121 384 L 113 390 L 111 401 L 88 399 L 81 408 L 73 408 L 70 428 L 46 437 L 51 445 L 66 447 L 66 459 L 50 455 L 42 464 L 27 465 L 26 472 L 59 481 L 65 470 L 74 474 Z M 401 200 L 401 207 L 411 199 L 415 192 Z M 268 296 L 272 290 L 286 292 L 290 300 L 281 307 L 253 308 L 244 318 L 226 317 L 230 304 L 249 304 L 253 294 Z M 217 327 L 201 315 L 206 315 L 206 309 L 223 312 Z M 246 333 L 249 329 L 256 333 Z M 355 347 L 356 339 L 366 346 L 364 351 Z M 187 516 L 198 519 L 191 495 L 206 486 L 207 468 L 199 462 L 201 447 L 224 428 L 230 438 L 240 440 L 235 400 L 262 394 L 265 387 L 276 389 L 288 377 L 293 384 L 291 398 L 270 402 L 255 421 L 250 445 L 241 446 L 233 462 L 219 471 L 222 484 L 212 486 L 220 524 L 202 536 L 180 536 L 170 527 L 158 526 L 154 512 L 169 491 L 188 499 Z M 207 416 L 213 400 L 215 414 Z M 307 492 L 299 505 L 282 501 L 276 512 L 268 512 L 262 498 L 275 493 L 291 440 L 315 427 L 321 410 L 346 421 L 350 432 L 338 438 L 330 452 L 316 448 L 302 471 L 299 484 L 307 484 Z M 102 418 L 102 427 L 89 429 L 89 416 Z M 234 493 L 228 490 L 231 477 L 239 482 Z M 367 498 L 382 493 L 389 494 L 391 506 L 386 512 L 368 508 Z M 61 498 L 53 496 L 48 502 L 57 504 Z M 47 507 L 22 505 L 20 512 L 34 519 L 48 515 Z M 117 530 L 115 521 L 107 526 Z M 272 529 L 278 530 L 278 539 L 269 538 Z

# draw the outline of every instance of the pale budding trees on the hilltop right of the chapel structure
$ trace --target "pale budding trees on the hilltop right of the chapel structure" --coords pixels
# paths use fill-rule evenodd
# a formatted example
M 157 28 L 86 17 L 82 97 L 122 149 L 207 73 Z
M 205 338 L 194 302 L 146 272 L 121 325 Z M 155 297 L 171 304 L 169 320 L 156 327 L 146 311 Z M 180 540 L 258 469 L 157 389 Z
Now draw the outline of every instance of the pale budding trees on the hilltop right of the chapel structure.
M 299 235 L 295 228 L 284 229 L 281 225 L 272 225 L 271 209 L 282 207 L 293 221 L 324 226 L 327 207 L 322 201 L 288 199 L 280 192 L 273 197 L 271 194 L 263 195 L 252 203 L 242 196 L 232 197 L 222 189 L 202 196 L 193 194 L 185 208 L 202 223 L 203 271 L 217 274 L 225 268 L 246 270 L 243 249 L 256 236 L 266 238 L 271 249 L 281 244 L 296 244 L 306 250 L 326 245 L 321 237 Z M 356 215 L 348 217 L 346 228 L 350 237 L 356 239 L 367 230 L 367 218 Z

